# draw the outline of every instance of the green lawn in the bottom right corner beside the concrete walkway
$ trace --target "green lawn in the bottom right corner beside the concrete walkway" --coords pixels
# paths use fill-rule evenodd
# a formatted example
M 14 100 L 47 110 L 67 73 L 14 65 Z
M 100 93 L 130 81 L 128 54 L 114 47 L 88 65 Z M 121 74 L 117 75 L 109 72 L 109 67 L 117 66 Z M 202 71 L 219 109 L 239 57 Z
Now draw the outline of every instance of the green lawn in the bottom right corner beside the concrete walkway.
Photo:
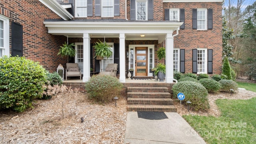
M 251 87 L 251 86 L 250 86 Z M 216 100 L 221 116 L 183 116 L 208 144 L 255 144 L 256 98 Z

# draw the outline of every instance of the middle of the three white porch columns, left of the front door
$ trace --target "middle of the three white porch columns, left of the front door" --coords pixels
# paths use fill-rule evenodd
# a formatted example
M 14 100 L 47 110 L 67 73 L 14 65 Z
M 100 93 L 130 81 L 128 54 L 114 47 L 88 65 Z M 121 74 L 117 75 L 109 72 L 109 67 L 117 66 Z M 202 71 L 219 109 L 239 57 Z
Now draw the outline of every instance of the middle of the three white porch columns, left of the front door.
M 125 82 L 125 34 L 119 34 L 120 82 Z

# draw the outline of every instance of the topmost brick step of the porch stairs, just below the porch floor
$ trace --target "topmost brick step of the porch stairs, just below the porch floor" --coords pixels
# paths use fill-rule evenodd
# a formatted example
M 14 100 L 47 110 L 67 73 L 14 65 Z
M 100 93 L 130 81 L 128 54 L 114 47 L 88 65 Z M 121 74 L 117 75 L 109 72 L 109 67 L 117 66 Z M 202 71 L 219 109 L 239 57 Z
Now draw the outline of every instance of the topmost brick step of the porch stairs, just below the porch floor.
M 168 92 L 166 87 L 127 87 L 127 92 Z

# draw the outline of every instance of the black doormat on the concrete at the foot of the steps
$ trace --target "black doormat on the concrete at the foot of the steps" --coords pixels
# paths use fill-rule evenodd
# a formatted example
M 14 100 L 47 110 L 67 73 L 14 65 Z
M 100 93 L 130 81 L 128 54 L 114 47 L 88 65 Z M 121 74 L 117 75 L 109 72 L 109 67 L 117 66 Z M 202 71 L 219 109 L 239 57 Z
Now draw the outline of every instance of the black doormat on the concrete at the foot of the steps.
M 168 118 L 164 112 L 144 112 L 138 111 L 138 118 L 144 118 L 148 120 L 162 120 Z

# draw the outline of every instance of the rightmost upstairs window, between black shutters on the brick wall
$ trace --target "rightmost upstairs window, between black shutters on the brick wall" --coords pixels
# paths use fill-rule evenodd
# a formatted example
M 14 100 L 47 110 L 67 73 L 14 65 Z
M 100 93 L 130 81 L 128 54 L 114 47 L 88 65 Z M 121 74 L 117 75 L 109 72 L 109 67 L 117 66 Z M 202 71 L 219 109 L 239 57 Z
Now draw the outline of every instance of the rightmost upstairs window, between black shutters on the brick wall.
M 198 30 L 207 30 L 207 10 L 206 9 L 197 9 L 197 29 Z

